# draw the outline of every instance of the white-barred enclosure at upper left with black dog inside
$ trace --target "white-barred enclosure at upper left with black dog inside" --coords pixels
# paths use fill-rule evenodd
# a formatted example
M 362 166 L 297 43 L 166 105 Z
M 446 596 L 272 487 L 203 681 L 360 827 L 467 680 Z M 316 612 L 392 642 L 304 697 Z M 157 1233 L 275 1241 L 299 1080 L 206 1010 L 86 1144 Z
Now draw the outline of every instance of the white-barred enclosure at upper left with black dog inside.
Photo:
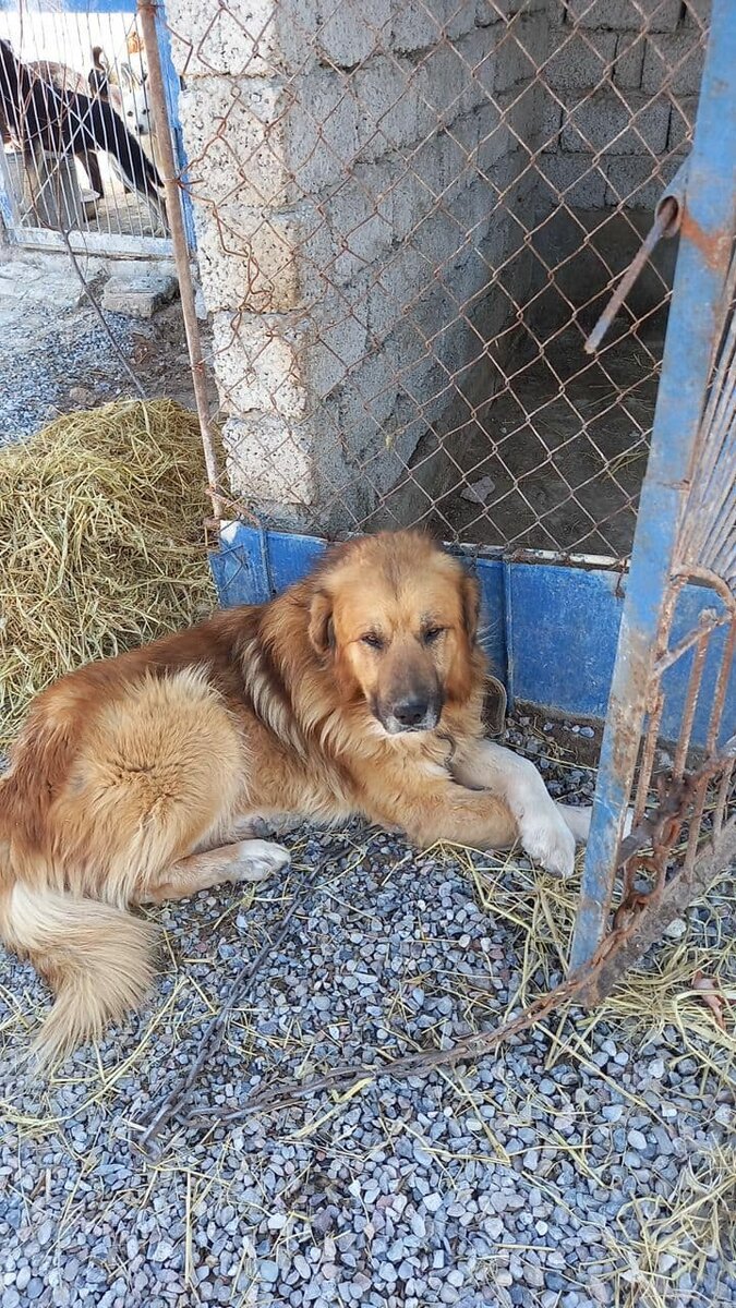
M 170 254 L 135 3 L 29 9 L 17 0 L 0 13 L 0 212 L 10 239 L 102 255 Z M 160 47 L 183 167 L 179 81 L 165 33 Z

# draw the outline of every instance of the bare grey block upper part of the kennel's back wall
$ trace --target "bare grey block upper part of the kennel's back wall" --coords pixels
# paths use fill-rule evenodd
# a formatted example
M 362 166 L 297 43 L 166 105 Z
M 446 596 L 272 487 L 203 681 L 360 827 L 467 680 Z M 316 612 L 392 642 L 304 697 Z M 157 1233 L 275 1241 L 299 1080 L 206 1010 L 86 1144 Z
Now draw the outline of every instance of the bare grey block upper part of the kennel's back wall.
M 555 107 L 540 170 L 547 203 L 651 212 L 688 152 L 707 7 L 567 0 L 551 12 L 543 78 Z

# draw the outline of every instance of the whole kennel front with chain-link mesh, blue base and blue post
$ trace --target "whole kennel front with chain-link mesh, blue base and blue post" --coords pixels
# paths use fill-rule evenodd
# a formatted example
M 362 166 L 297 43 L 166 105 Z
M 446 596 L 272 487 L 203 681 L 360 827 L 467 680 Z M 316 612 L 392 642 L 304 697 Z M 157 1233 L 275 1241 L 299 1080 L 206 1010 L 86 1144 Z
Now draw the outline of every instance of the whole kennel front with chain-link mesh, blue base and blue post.
M 622 861 L 652 906 L 736 838 L 736 7 L 451 8 L 295 0 L 267 42 L 223 0 L 170 13 L 227 419 L 213 569 L 262 600 L 377 526 L 470 559 L 509 701 L 605 723 L 580 961 Z M 676 178 L 680 249 L 647 237 Z

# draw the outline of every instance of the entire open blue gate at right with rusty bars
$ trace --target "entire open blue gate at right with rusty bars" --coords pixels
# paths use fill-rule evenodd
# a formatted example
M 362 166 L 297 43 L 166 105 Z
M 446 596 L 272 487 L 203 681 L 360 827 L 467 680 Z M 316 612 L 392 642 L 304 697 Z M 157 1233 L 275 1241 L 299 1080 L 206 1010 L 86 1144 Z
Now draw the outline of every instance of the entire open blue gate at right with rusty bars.
M 610 922 L 617 872 L 633 961 L 736 857 L 735 722 L 724 722 L 736 645 L 736 22 L 716 0 L 690 157 L 672 309 L 626 603 L 618 641 L 591 840 L 572 944 L 587 964 Z M 712 608 L 674 632 L 686 582 L 710 589 Z M 710 675 L 703 676 L 710 654 Z M 672 768 L 656 746 L 667 672 L 689 661 L 688 696 Z M 688 772 L 697 709 L 707 712 L 705 757 Z M 636 780 L 636 764 L 639 774 Z M 634 836 L 623 838 L 634 794 Z M 710 819 L 705 821 L 706 795 Z M 676 846 L 680 852 L 676 854 Z M 619 960 L 621 963 L 621 960 Z M 617 967 L 619 971 L 619 965 Z M 591 1002 L 608 989 L 605 968 Z

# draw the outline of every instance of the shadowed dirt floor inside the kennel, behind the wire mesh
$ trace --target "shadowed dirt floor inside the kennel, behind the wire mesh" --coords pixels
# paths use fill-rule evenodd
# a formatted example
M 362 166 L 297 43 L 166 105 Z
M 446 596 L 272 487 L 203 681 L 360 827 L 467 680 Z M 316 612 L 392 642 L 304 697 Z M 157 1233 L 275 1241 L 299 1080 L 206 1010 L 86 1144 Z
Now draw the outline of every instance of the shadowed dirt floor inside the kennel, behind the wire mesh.
M 520 352 L 492 399 L 427 433 L 375 525 L 424 521 L 479 545 L 631 551 L 661 334 L 622 334 L 595 358 L 572 327 Z

